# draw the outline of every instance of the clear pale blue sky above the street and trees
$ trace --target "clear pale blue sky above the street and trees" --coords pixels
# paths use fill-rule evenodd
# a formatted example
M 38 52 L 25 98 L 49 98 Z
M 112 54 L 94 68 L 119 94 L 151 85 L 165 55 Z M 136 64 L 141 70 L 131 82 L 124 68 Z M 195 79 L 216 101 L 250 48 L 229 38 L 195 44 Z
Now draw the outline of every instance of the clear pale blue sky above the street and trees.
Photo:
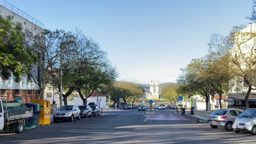
M 2 0 L 0 0 L 2 1 Z M 46 29 L 80 28 L 117 67 L 117 80 L 176 82 L 193 58 L 208 51 L 212 33 L 248 25 L 253 0 L 82 1 L 7 0 Z

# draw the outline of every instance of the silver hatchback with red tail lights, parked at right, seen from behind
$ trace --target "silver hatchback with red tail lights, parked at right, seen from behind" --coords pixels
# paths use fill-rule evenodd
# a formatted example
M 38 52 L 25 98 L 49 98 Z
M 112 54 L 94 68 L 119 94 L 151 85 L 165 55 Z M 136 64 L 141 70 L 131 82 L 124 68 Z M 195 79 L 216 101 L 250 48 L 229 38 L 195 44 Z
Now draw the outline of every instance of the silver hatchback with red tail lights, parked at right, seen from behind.
M 232 130 L 232 124 L 235 122 L 235 119 L 238 117 L 238 115 L 242 112 L 243 110 L 240 109 L 219 109 L 213 111 L 208 123 L 213 129 L 218 127 L 225 127 L 226 130 Z

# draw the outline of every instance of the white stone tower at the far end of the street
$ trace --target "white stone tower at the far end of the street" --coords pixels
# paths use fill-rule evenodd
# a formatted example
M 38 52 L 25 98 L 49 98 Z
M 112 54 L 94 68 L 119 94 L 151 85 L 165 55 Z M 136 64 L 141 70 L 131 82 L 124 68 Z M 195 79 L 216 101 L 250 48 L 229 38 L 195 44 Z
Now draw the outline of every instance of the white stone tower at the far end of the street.
M 147 93 L 147 99 L 159 99 L 159 80 L 150 81 L 150 91 Z

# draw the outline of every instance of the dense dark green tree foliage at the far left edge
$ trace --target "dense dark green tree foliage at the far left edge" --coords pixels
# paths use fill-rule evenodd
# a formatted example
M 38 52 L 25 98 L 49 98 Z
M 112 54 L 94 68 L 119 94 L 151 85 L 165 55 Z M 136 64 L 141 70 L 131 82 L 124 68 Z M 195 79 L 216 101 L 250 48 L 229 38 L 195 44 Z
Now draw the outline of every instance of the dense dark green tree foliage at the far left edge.
M 19 82 L 24 74 L 31 74 L 37 57 L 25 41 L 21 23 L 14 23 L 10 16 L 0 15 L 0 76 L 11 75 Z

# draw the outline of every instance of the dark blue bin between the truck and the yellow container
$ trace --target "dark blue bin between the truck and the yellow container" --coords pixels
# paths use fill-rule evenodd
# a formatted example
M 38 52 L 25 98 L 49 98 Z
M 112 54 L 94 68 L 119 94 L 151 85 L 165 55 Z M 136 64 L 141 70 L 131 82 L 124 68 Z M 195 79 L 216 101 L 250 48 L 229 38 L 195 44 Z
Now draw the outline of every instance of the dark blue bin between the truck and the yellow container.
M 26 127 L 27 128 L 38 127 L 39 126 L 40 105 L 36 104 L 36 103 L 26 103 L 25 105 L 27 107 L 33 108 L 33 117 L 28 119 Z

